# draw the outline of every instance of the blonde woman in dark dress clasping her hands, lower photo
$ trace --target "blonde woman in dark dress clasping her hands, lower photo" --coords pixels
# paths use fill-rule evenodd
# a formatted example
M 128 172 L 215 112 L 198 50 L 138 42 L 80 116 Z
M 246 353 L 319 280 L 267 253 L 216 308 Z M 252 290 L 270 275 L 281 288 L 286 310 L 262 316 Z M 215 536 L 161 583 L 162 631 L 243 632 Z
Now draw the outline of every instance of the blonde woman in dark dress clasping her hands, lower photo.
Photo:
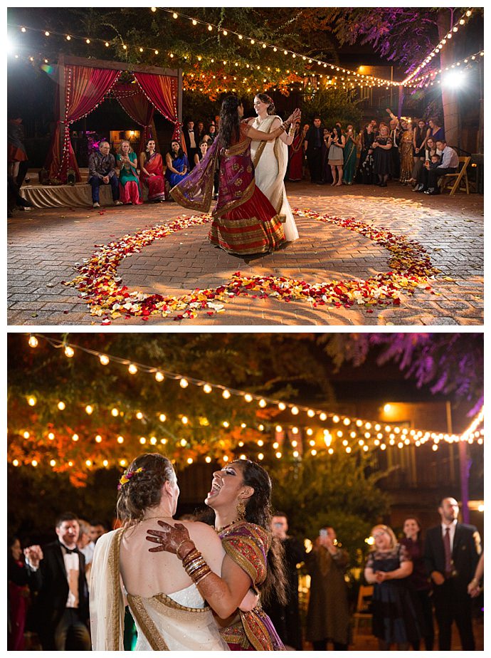
M 364 575 L 366 582 L 374 585 L 372 632 L 379 639 L 381 651 L 390 651 L 392 644 L 398 651 L 407 651 L 421 638 L 408 585 L 413 562 L 388 526 L 375 526 L 371 536 L 374 550 L 366 560 Z

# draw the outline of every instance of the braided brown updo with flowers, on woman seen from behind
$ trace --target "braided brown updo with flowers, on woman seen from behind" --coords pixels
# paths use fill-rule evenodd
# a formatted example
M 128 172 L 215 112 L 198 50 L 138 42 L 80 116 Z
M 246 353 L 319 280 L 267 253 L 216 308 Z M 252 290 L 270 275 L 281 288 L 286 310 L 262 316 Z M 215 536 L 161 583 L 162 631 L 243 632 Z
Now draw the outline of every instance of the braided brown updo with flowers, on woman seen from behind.
M 142 471 L 136 472 L 138 469 Z M 167 457 L 157 452 L 146 452 L 132 461 L 125 484 L 117 496 L 117 518 L 125 524 L 141 521 L 147 508 L 156 507 L 162 498 L 162 486 L 174 481 L 174 467 Z

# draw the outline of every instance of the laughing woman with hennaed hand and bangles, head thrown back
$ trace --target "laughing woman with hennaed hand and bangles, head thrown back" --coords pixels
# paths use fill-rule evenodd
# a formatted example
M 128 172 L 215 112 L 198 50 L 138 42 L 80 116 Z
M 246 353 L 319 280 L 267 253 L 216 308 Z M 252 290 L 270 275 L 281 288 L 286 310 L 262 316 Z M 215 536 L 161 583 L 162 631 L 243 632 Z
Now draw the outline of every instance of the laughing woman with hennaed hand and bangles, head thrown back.
M 268 473 L 253 461 L 238 459 L 213 473 L 211 490 L 205 500 L 214 511 L 215 530 L 221 538 L 226 557 L 222 578 L 209 573 L 198 583 L 201 595 L 216 609 L 216 602 L 229 595 L 226 575 L 240 572 L 243 582 L 260 596 L 253 610 L 235 610 L 221 630 L 221 637 L 236 651 L 285 649 L 260 602 L 267 600 L 273 590 L 276 597 L 285 602 L 283 548 L 270 531 L 270 498 L 271 480 Z M 150 552 L 169 551 L 177 555 L 184 565 L 199 559 L 193 557 L 199 552 L 184 526 L 158 523 L 161 530 L 148 531 L 148 541 L 159 544 L 156 548 L 150 548 Z

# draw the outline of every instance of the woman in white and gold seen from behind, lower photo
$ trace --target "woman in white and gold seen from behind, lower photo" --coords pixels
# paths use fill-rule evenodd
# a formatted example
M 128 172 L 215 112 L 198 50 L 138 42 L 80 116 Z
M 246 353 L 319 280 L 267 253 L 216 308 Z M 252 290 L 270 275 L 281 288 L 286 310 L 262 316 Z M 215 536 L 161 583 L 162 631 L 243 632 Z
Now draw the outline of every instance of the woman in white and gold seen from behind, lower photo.
M 179 486 L 169 459 L 160 454 L 140 455 L 118 488 L 117 514 L 123 526 L 97 541 L 90 574 L 93 650 L 124 650 L 127 602 L 138 632 L 135 651 L 228 651 L 211 608 L 196 588 L 195 576 L 190 578 L 176 555 L 156 554 L 147 548 L 145 536 L 157 518 L 174 524 Z M 213 528 L 193 521 L 180 523 L 211 571 L 221 575 L 225 551 Z M 219 611 L 221 617 L 236 610 L 247 587 L 236 590 L 235 598 Z M 250 610 L 256 602 L 252 599 L 250 607 L 245 602 L 241 607 Z

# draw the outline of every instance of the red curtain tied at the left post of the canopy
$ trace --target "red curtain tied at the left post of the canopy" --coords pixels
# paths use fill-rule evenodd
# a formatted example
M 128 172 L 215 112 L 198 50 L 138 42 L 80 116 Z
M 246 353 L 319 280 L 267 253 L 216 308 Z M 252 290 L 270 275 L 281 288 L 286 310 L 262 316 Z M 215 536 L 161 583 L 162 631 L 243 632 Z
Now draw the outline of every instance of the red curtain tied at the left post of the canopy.
M 56 125 L 51 154 L 48 155 L 50 178 L 65 183 L 68 167 L 75 169 L 75 177 L 80 181 L 77 161 L 70 143 L 70 124 L 97 108 L 97 105 L 110 91 L 121 71 L 112 71 L 90 66 L 64 66 L 65 73 L 65 116 L 59 117 Z M 63 135 L 63 146 L 60 137 Z

